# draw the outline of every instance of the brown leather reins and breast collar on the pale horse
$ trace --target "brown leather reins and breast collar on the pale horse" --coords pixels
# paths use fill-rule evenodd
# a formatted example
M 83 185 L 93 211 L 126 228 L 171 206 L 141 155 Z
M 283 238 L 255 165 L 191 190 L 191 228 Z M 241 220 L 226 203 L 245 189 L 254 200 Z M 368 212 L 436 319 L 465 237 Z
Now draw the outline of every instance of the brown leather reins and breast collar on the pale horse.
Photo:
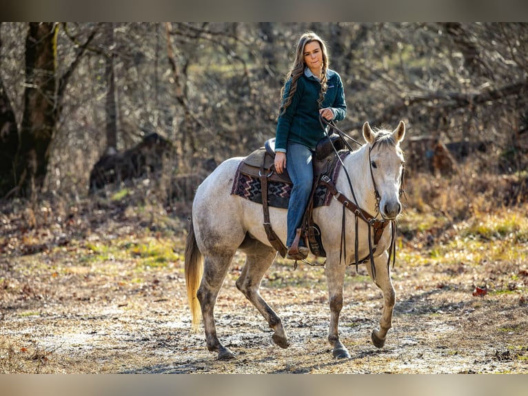
M 346 141 L 345 137 L 347 139 L 350 139 L 350 140 L 354 141 L 354 143 L 358 144 L 358 146 L 362 146 L 361 143 L 359 143 L 358 141 L 356 141 L 352 137 L 349 137 L 347 134 L 345 134 L 345 132 L 343 132 L 342 130 L 337 128 L 333 122 L 327 121 L 326 119 L 324 119 L 321 116 L 319 116 L 319 121 L 321 122 L 321 126 L 323 126 L 323 129 L 326 130 L 327 126 L 332 128 L 337 133 L 337 135 L 339 137 L 341 137 L 341 140 L 343 141 L 343 143 L 345 143 L 345 146 L 347 146 L 348 150 L 350 150 L 351 152 L 353 151 L 352 147 L 350 147 L 350 145 Z M 370 259 L 372 277 L 375 280 L 376 279 L 376 266 L 374 264 L 374 253 L 376 252 L 376 247 L 377 247 L 378 241 L 380 240 L 381 236 L 383 235 L 383 231 L 385 230 L 385 228 L 389 224 L 391 225 L 391 242 L 389 244 L 389 258 L 387 260 L 387 270 L 388 270 L 388 268 L 390 266 L 391 259 L 392 259 L 392 266 L 394 267 L 394 264 L 396 262 L 396 227 L 397 227 L 395 220 L 377 219 L 377 217 L 378 217 L 378 215 L 380 213 L 380 210 L 379 210 L 380 195 L 379 195 L 379 192 L 378 192 L 378 188 L 376 186 L 376 181 L 374 180 L 374 172 L 372 171 L 372 161 L 370 160 L 370 153 L 372 152 L 372 149 L 374 148 L 374 146 L 376 146 L 377 141 L 374 141 L 372 146 L 369 147 L 370 176 L 372 178 L 372 184 L 374 186 L 374 196 L 376 197 L 376 215 L 372 216 L 367 211 L 363 210 L 362 208 L 360 208 L 358 206 L 358 201 L 356 199 L 356 194 L 354 193 L 354 188 L 352 187 L 352 181 L 350 179 L 350 175 L 349 175 L 349 173 L 347 171 L 347 168 L 345 168 L 345 165 L 343 164 L 343 160 L 338 155 L 338 150 L 336 150 L 336 148 L 334 146 L 334 143 L 332 143 L 332 139 L 329 138 L 329 134 L 326 133 L 326 135 L 327 135 L 330 143 L 332 144 L 332 148 L 334 149 L 334 152 L 336 153 L 336 157 L 341 162 L 341 166 L 342 166 L 343 170 L 345 171 L 345 175 L 347 176 L 348 185 L 349 185 L 350 191 L 352 192 L 352 198 L 353 198 L 353 201 L 352 201 L 351 199 L 348 199 L 347 197 L 345 197 L 345 195 L 343 195 L 342 192 L 340 192 L 340 191 L 338 191 L 336 189 L 336 186 L 334 185 L 332 180 L 329 177 L 327 177 L 326 175 L 321 178 L 321 182 L 323 182 L 323 184 L 325 184 L 327 186 L 329 191 L 334 196 L 334 199 L 336 199 L 337 201 L 339 201 L 343 205 L 343 217 L 342 217 L 342 224 L 341 224 L 341 246 L 340 246 L 340 253 L 339 253 L 339 262 L 341 262 L 341 259 L 344 259 L 345 263 L 347 263 L 346 235 L 345 235 L 345 208 L 347 208 L 348 210 L 350 210 L 351 212 L 354 213 L 354 223 L 355 223 L 354 226 L 355 226 L 355 231 L 356 231 L 355 242 L 354 242 L 354 245 L 355 245 L 354 246 L 355 247 L 355 252 L 354 252 L 355 253 L 355 257 L 354 257 L 355 262 L 354 262 L 354 264 L 356 265 L 356 272 L 358 271 L 358 265 L 359 264 L 365 264 L 367 262 L 367 260 Z M 400 192 L 399 192 L 400 195 L 402 195 L 403 192 L 404 192 L 404 190 L 403 190 L 403 173 L 404 172 L 402 172 L 402 176 L 401 176 L 402 179 L 400 181 Z M 369 241 L 369 255 L 367 257 L 363 258 L 363 259 L 359 259 L 359 257 L 358 257 L 358 245 L 359 245 L 359 242 L 358 242 L 358 218 L 361 218 L 369 226 L 369 232 L 368 232 L 368 236 L 369 236 L 368 237 L 368 241 Z M 370 232 L 371 228 L 372 228 L 372 230 L 374 232 Z M 372 241 L 372 234 L 373 233 L 374 233 L 374 244 L 373 244 L 373 241 Z M 350 263 L 350 265 L 352 265 L 352 264 L 353 263 Z

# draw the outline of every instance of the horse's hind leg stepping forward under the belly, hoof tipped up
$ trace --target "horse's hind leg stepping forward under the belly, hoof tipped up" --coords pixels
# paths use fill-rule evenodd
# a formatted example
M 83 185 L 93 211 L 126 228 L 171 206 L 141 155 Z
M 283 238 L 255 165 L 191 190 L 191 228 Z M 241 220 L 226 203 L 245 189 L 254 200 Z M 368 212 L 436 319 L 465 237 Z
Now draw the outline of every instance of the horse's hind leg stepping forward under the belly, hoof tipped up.
M 273 264 L 276 251 L 256 239 L 248 241 L 241 246 L 246 254 L 245 265 L 240 277 L 236 281 L 236 287 L 245 297 L 251 301 L 258 312 L 266 319 L 270 328 L 274 330 L 273 341 L 281 348 L 290 346 L 286 332 L 283 328 L 281 318 L 262 298 L 259 288 L 267 269 Z

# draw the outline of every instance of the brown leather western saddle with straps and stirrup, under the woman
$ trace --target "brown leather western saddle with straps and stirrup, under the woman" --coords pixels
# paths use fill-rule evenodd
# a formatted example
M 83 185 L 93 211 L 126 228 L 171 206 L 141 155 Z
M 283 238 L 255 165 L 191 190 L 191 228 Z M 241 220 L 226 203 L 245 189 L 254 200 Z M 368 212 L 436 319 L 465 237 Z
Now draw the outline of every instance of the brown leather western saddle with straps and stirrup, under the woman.
M 321 183 L 323 176 L 331 177 L 332 172 L 336 168 L 338 157 L 334 151 L 345 148 L 341 137 L 332 134 L 329 137 L 324 137 L 318 142 L 316 146 L 315 155 L 312 158 L 314 167 L 314 184 L 312 185 L 312 192 L 303 217 L 303 224 L 301 228 L 296 230 L 296 237 L 292 244 L 292 248 L 296 250 L 298 243 L 303 238 L 307 242 L 310 250 L 315 256 L 326 257 L 326 252 L 321 241 L 321 229 L 314 223 L 313 208 L 314 208 L 314 192 L 317 186 Z M 265 141 L 264 146 L 258 148 L 250 155 L 245 157 L 238 170 L 248 176 L 255 177 L 261 181 L 262 190 L 262 207 L 263 207 L 263 226 L 270 244 L 278 250 L 282 257 L 286 257 L 287 248 L 284 246 L 281 239 L 279 239 L 270 224 L 270 210 L 267 199 L 267 184 L 269 181 L 276 181 L 285 184 L 292 184 L 292 179 L 288 175 L 287 170 L 282 174 L 278 174 L 274 167 L 275 159 L 275 138 Z

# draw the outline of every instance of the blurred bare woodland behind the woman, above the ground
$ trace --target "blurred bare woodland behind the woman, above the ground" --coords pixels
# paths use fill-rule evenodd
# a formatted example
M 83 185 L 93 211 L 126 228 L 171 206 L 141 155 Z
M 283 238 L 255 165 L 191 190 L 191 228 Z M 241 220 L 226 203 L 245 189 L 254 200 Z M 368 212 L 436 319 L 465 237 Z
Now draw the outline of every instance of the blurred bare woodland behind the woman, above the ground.
M 485 145 L 480 172 L 525 168 L 526 23 L 2 23 L 0 197 L 85 196 L 105 152 L 152 132 L 172 175 L 246 155 L 274 136 L 304 30 L 343 76 L 342 130 L 403 119 L 415 139 Z

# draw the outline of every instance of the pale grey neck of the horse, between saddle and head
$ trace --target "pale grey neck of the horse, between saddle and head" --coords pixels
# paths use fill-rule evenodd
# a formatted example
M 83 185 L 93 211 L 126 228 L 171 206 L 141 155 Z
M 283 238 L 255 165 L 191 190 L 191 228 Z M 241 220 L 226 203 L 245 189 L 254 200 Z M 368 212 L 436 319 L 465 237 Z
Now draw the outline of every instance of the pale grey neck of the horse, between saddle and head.
M 374 184 L 372 183 L 372 175 L 370 173 L 369 145 L 365 144 L 360 149 L 347 155 L 343 161 L 343 165 L 344 169 L 339 172 L 336 181 L 337 189 L 352 201 L 354 201 L 355 196 L 357 202 L 354 202 L 354 204 L 366 210 L 371 215 L 375 215 L 376 197 L 374 195 Z M 352 181 L 354 195 L 350 190 L 345 170 L 348 172 L 350 181 Z

